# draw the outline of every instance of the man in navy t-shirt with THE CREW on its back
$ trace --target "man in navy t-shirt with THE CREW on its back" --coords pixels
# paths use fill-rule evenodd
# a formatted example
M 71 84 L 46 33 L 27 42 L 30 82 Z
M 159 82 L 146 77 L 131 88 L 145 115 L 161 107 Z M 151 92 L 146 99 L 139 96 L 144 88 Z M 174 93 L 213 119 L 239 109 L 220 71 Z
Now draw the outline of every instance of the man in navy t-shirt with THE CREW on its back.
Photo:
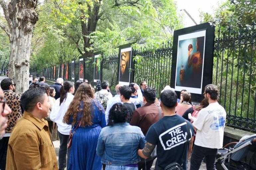
M 163 170 L 167 165 L 177 162 L 187 169 L 187 158 L 192 150 L 193 127 L 190 122 L 175 113 L 177 106 L 177 94 L 172 90 L 165 90 L 160 95 L 160 106 L 164 117 L 153 124 L 146 135 L 147 141 L 143 149 L 138 150 L 142 158 L 148 158 L 157 145 L 157 163 L 155 170 Z M 187 123 L 190 127 L 188 132 Z M 189 135 L 190 143 L 185 148 Z M 185 151 L 184 160 L 182 160 Z

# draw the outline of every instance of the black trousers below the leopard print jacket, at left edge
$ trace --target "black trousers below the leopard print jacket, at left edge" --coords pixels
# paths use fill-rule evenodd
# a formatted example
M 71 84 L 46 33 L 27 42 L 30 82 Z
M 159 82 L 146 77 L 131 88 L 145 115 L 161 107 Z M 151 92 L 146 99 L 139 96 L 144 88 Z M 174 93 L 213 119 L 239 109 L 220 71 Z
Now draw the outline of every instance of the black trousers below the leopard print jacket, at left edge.
M 0 140 L 0 169 L 1 170 L 5 170 L 9 138 L 10 137 L 3 137 L 3 139 Z

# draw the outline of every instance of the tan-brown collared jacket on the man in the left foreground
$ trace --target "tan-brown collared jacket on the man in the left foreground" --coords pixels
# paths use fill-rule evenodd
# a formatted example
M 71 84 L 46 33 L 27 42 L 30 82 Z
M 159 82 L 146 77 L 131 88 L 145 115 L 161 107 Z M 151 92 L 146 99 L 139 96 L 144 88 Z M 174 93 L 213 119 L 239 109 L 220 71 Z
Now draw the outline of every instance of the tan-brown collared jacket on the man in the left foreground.
M 47 121 L 24 112 L 14 126 L 7 150 L 6 170 L 58 170 Z

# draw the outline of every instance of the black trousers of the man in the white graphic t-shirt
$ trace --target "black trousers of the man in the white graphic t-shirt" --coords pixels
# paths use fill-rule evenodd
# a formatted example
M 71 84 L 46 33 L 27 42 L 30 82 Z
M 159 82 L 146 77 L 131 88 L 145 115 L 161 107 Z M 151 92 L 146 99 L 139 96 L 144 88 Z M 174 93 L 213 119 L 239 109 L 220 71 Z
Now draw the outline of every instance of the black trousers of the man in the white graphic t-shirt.
M 200 168 L 203 157 L 205 157 L 206 169 L 215 170 L 215 159 L 217 153 L 218 149 L 194 145 L 190 159 L 190 170 L 198 170 Z

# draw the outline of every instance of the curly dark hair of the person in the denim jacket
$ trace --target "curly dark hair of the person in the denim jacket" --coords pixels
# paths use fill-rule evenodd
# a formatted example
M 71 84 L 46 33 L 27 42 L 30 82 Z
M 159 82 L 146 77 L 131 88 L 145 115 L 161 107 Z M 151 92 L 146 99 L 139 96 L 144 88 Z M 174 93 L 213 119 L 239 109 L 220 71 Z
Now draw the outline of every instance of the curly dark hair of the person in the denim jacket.
M 107 126 L 113 126 L 115 123 L 126 122 L 128 117 L 127 113 L 128 109 L 123 104 L 114 104 L 109 111 Z

